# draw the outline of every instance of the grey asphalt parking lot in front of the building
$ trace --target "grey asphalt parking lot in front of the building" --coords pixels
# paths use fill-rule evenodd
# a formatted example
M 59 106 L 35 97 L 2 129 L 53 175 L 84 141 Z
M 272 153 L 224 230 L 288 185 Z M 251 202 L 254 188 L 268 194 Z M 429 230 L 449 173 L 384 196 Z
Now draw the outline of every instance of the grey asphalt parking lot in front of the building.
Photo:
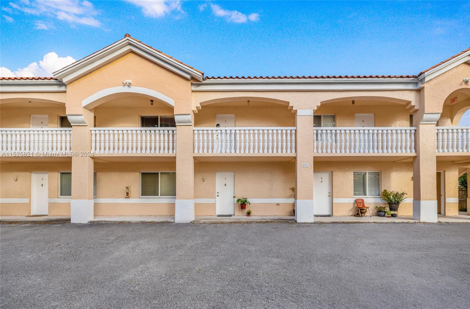
M 470 224 L 1 224 L 1 308 L 469 308 Z

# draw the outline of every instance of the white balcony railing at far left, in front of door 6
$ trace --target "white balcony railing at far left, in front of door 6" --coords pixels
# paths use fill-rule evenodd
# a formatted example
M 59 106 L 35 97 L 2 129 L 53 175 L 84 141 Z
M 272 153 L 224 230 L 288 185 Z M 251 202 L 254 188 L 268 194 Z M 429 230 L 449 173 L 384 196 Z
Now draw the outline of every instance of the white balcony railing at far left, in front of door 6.
M 67 155 L 72 149 L 71 128 L 1 128 L 0 152 Z

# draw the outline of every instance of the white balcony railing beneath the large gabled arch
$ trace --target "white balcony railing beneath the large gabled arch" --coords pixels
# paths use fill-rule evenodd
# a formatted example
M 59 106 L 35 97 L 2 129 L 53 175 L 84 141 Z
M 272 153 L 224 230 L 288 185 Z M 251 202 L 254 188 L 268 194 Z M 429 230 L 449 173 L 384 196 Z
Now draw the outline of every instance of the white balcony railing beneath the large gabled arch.
M 176 128 L 91 128 L 95 154 L 173 154 Z

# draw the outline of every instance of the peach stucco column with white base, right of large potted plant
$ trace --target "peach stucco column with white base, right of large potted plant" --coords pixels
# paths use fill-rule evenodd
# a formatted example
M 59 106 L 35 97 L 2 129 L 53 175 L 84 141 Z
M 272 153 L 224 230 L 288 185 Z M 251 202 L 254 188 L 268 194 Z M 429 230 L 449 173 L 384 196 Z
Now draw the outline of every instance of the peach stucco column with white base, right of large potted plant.
M 415 118 L 418 118 L 416 114 Z M 415 119 L 415 149 L 413 160 L 413 219 L 437 222 L 436 200 L 436 122 L 439 113 L 421 114 Z

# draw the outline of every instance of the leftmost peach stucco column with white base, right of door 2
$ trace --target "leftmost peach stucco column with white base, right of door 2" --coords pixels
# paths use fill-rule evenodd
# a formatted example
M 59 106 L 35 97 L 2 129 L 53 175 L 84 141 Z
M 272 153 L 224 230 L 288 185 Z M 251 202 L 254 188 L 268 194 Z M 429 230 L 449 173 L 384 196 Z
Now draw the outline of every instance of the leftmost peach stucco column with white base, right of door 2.
M 71 223 L 88 223 L 94 219 L 93 158 L 91 132 L 92 111 L 83 109 L 83 114 L 67 114 L 72 125 L 72 198 L 70 203 Z

